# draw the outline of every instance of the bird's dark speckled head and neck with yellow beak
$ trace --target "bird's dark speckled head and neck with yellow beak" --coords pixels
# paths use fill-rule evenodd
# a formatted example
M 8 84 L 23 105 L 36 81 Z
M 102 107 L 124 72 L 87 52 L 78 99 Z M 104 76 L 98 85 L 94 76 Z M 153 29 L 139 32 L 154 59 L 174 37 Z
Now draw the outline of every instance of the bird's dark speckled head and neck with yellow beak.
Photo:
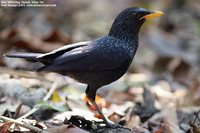
M 163 14 L 161 11 L 148 11 L 138 7 L 127 8 L 114 20 L 109 35 L 122 39 L 133 39 L 138 36 L 145 20 L 160 17 Z

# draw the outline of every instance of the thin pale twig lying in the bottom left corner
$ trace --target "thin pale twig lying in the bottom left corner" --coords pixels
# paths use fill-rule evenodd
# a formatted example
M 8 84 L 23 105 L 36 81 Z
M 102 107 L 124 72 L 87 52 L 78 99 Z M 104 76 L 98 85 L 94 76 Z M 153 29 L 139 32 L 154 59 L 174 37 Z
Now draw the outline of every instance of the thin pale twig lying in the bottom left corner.
M 49 133 L 46 130 L 43 130 L 43 129 L 40 129 L 40 128 L 31 126 L 31 125 L 28 125 L 28 124 L 19 122 L 18 120 L 14 120 L 14 119 L 11 119 L 11 118 L 8 118 L 8 117 L 5 117 L 5 116 L 1 116 L 0 115 L 0 119 L 2 119 L 3 121 L 13 122 L 13 123 L 15 123 L 16 125 L 18 125 L 20 127 L 27 128 L 27 129 L 29 129 L 29 130 L 31 130 L 33 132 L 36 132 L 36 133 Z

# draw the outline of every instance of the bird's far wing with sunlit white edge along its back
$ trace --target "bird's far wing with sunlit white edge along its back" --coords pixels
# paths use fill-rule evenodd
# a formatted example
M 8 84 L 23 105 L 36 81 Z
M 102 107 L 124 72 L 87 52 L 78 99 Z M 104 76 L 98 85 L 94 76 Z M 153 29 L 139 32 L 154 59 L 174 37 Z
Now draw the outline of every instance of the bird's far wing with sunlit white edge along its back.
M 75 48 L 87 46 L 91 43 L 91 41 L 86 42 L 79 42 L 74 44 L 68 44 L 66 46 L 63 46 L 61 48 L 58 48 L 56 50 L 53 50 L 46 54 L 41 54 L 37 56 L 38 61 L 41 61 L 43 63 L 52 63 L 52 61 L 57 58 L 58 56 L 61 56 L 62 54 L 69 52 Z

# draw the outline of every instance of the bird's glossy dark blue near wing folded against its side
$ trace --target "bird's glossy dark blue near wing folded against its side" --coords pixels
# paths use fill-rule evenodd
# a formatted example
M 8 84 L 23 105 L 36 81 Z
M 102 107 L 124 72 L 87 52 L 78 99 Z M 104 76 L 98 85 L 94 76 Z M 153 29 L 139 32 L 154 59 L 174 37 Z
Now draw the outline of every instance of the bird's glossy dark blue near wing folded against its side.
M 105 71 L 118 67 L 128 59 L 127 53 L 119 49 L 102 50 L 85 46 L 73 49 L 57 57 L 43 70 L 48 71 Z

